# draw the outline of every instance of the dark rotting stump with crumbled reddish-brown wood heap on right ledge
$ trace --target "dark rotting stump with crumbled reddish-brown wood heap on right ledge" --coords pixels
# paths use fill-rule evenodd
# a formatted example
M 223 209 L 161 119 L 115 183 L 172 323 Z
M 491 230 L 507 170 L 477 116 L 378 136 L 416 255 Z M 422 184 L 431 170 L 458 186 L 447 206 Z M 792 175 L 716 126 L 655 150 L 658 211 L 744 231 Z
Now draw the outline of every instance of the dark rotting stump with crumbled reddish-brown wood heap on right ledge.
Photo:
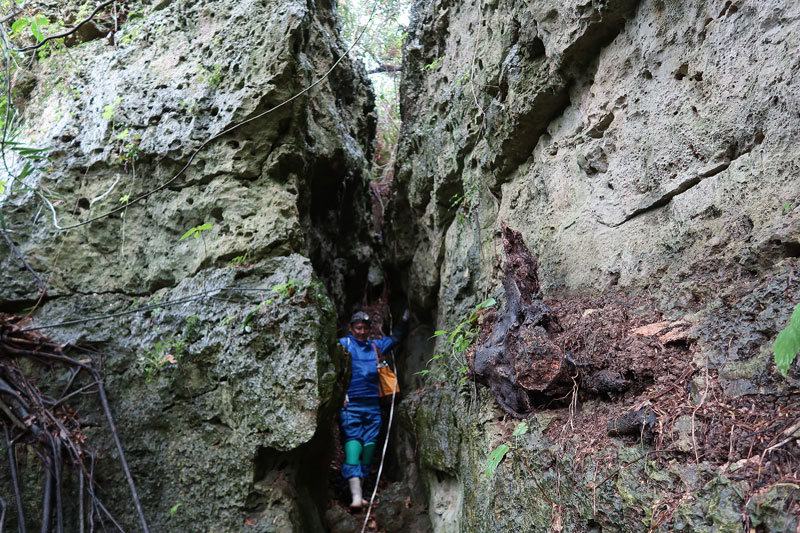
M 663 322 L 636 298 L 600 298 L 602 310 L 584 308 L 576 297 L 543 300 L 536 259 L 522 235 L 505 224 L 502 230 L 505 308 L 481 317 L 479 342 L 468 360 L 504 411 L 524 418 L 536 407 L 574 399 L 578 390 L 584 398 L 636 394 L 668 374 L 673 356 L 686 359 L 689 324 Z M 653 417 L 642 411 L 612 422 L 611 433 L 648 434 Z

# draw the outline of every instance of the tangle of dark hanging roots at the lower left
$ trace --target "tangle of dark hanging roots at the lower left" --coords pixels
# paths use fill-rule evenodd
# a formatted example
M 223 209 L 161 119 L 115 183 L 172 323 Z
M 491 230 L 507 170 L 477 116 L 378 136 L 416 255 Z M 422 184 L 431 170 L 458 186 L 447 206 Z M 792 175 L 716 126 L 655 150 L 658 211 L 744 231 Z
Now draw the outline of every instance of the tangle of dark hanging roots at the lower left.
M 18 472 L 16 451 L 27 446 L 42 461 L 45 479 L 42 481 L 41 531 L 85 531 L 92 532 L 96 526 L 107 529 L 109 525 L 122 531 L 97 494 L 94 479 L 94 456 L 86 448 L 86 436 L 81 431 L 78 418 L 67 403 L 70 398 L 94 391 L 105 415 L 108 429 L 114 439 L 122 470 L 128 480 L 133 505 L 136 507 L 142 528 L 148 531 L 136 487 L 133 483 L 122 444 L 117 436 L 111 409 L 108 405 L 103 378 L 93 366 L 91 357 L 77 360 L 67 353 L 80 351 L 77 347 L 60 345 L 44 337 L 26 332 L 19 325 L 19 318 L 0 315 L 0 425 L 5 443 L 8 471 L 11 477 L 14 508 L 18 530 L 26 531 L 23 491 Z M 24 363 L 23 363 L 24 360 Z M 25 369 L 61 370 L 67 374 L 67 385 L 59 397 L 41 392 L 31 372 Z M 34 372 L 35 373 L 35 372 Z M 43 374 L 43 372 L 42 372 Z M 80 375 L 90 382 L 77 386 Z M 65 468 L 69 469 L 65 472 Z M 77 481 L 77 494 L 65 494 L 67 477 Z M 74 484 L 74 483 L 72 483 Z M 74 514 L 74 524 L 65 515 L 65 499 Z M 0 501 L 0 531 L 3 530 L 5 510 L 10 504 Z

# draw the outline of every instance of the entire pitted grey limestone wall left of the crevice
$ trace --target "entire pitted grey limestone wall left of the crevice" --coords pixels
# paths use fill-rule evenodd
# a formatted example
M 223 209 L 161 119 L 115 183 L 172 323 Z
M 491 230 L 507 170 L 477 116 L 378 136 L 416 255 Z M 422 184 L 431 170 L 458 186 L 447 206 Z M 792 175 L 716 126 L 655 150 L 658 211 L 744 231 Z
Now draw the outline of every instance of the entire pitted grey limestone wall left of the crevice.
M 33 278 L 4 254 L 0 307 L 36 304 L 29 325 L 42 326 L 151 306 L 46 330 L 102 366 L 151 531 L 320 531 L 343 394 L 337 306 L 372 253 L 369 83 L 345 60 L 283 104 L 345 51 L 326 0 L 127 8 L 113 38 L 25 73 L 19 140 L 48 159 L 3 212 L 48 290 L 37 302 Z M 25 161 L 12 155 L 16 171 Z M 135 529 L 97 406 L 79 408 L 103 501 Z

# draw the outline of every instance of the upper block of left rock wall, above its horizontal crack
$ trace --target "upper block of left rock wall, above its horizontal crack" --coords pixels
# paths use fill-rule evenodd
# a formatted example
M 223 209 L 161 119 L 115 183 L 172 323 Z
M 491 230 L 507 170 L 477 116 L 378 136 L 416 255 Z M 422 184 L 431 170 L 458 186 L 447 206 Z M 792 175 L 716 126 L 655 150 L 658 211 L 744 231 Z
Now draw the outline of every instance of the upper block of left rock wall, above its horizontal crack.
M 334 296 L 343 296 L 343 273 L 371 254 L 362 239 L 374 113 L 363 71 L 341 63 L 317 91 L 231 130 L 303 90 L 344 52 L 329 9 L 150 6 L 120 29 L 116 47 L 94 40 L 35 65 L 18 140 L 49 149 L 28 184 L 66 199 L 55 204 L 61 226 L 163 189 L 71 232 L 57 231 L 52 213 L 36 216 L 44 207 L 37 197 L 10 198 L 6 221 L 34 269 L 48 272 L 58 257 L 51 296 L 146 295 L 237 257 L 258 263 L 293 252 L 329 268 Z M 345 94 L 347 105 L 338 104 Z M 9 161 L 12 169 L 24 163 Z M 211 228 L 201 240 L 180 240 L 204 223 Z M 351 234 L 348 246 L 330 238 L 336 230 Z M 0 301 L 35 301 L 21 266 L 4 267 L 20 275 Z

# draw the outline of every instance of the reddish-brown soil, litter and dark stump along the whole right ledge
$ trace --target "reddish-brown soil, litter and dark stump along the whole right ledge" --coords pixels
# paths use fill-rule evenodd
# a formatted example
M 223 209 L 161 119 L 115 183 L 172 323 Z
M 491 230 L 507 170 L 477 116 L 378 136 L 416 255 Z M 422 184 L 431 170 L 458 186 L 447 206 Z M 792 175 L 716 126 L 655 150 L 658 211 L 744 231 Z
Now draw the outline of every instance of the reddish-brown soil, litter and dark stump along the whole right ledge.
M 800 394 L 726 396 L 697 360 L 694 324 L 666 320 L 641 296 L 544 300 L 519 234 L 504 226 L 503 243 L 505 308 L 479 319 L 467 358 L 504 411 L 558 413 L 547 434 L 573 449 L 578 435 L 578 462 L 624 439 L 649 445 L 651 460 L 706 462 L 747 481 L 745 500 L 800 484 Z

